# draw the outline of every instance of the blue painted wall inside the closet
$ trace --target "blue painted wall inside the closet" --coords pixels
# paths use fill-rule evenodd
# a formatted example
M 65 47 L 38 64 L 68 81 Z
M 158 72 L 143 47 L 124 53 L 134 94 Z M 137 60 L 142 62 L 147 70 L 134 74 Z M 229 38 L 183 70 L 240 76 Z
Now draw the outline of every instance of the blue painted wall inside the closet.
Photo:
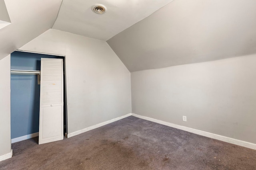
M 15 51 L 11 69 L 40 70 L 41 58 L 52 55 Z M 40 85 L 37 75 L 11 75 L 11 139 L 39 131 Z

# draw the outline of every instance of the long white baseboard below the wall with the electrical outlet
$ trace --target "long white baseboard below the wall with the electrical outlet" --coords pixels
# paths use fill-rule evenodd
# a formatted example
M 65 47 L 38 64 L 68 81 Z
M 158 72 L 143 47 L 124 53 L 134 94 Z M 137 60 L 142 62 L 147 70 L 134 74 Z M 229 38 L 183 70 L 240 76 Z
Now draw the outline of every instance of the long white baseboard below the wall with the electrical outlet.
M 188 132 L 195 133 L 195 134 L 198 134 L 198 135 L 202 135 L 202 136 L 205 136 L 205 137 L 210 137 L 212 139 L 217 139 L 217 140 L 220 140 L 220 141 L 224 141 L 224 142 L 228 142 L 228 143 L 232 143 L 232 144 L 235 144 L 235 145 L 239 145 L 239 146 L 242 146 L 242 147 L 246 147 L 246 148 L 256 150 L 256 144 L 254 144 L 254 143 L 240 141 L 238 139 L 233 139 L 233 138 L 230 138 L 230 137 L 224 137 L 224 136 L 221 136 L 221 135 L 216 135 L 214 133 L 209 133 L 209 132 L 200 131 L 200 130 L 197 130 L 197 129 L 192 129 L 190 127 L 176 125 L 176 124 L 173 124 L 173 123 L 169 123 L 169 122 L 166 122 L 166 121 L 161 121 L 161 120 L 158 120 L 158 119 L 153 119 L 153 118 L 146 117 L 146 116 L 137 115 L 137 114 L 134 114 L 134 113 L 132 113 L 132 115 L 135 116 L 135 117 L 141 118 L 141 119 L 145 119 L 145 120 L 148 120 L 148 121 L 160 123 L 162 125 L 174 127 L 176 129 L 181 129 L 183 131 L 188 131 Z

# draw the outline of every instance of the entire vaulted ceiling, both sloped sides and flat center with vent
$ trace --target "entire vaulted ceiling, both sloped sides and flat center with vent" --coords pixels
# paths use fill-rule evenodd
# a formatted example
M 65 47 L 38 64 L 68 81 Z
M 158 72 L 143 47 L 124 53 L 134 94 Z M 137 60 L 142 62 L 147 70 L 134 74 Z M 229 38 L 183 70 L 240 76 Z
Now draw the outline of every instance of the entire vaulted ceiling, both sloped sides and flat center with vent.
M 4 2 L 0 59 L 50 28 L 107 41 L 131 72 L 256 53 L 255 0 Z

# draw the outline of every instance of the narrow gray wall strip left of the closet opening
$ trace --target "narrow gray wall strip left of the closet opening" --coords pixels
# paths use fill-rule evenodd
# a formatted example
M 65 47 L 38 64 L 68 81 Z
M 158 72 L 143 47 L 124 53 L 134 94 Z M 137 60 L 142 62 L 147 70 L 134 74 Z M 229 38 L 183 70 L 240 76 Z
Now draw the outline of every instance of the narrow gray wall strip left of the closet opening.
M 11 152 L 10 55 L 0 60 L 0 156 Z

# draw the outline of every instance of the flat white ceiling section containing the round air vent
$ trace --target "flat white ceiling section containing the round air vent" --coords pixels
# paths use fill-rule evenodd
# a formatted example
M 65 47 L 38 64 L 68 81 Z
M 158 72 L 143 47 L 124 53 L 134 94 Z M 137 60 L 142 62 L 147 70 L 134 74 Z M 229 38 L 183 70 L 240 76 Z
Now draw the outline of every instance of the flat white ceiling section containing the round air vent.
M 54 29 L 108 40 L 173 0 L 63 0 Z M 91 7 L 103 4 L 105 14 Z

